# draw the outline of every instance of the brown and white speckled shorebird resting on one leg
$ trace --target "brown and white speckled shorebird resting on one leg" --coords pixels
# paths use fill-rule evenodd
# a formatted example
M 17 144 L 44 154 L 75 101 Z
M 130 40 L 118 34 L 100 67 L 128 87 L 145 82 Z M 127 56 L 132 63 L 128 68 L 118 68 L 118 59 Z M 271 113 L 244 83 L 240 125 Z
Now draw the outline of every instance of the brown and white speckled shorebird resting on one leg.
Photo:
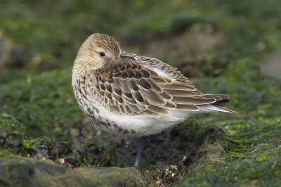
M 229 112 L 226 94 L 204 94 L 175 67 L 120 49 L 107 34 L 94 33 L 81 45 L 72 68 L 72 88 L 91 123 L 110 134 L 140 138 L 158 134 L 200 113 Z

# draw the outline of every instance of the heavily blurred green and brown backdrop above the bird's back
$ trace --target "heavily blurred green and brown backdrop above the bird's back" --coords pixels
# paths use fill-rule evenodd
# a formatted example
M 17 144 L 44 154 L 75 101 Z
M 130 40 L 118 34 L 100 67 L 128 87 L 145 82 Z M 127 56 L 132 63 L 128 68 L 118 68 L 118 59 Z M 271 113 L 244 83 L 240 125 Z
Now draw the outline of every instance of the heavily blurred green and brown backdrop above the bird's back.
M 280 1 L 274 0 L 2 0 L 0 6 L 0 82 L 70 67 L 93 32 L 189 77 L 221 75 L 237 57 L 262 60 L 280 46 Z M 18 74 L 9 76 L 13 71 Z

